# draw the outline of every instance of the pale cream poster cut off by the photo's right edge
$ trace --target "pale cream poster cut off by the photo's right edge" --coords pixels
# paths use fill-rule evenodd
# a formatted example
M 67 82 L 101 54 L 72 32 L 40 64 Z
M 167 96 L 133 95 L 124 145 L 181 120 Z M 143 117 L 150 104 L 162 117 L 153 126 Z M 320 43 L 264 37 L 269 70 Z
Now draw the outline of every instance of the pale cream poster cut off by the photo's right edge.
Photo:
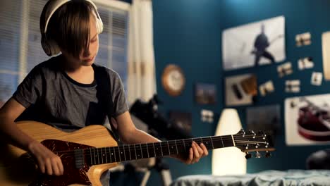
M 330 32 L 322 33 L 322 61 L 324 79 L 330 80 Z

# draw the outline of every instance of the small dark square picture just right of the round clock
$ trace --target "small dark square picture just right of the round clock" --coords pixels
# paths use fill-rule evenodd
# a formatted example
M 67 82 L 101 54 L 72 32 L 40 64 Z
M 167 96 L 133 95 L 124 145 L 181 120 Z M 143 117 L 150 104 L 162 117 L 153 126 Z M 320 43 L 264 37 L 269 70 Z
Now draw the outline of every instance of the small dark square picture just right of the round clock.
M 216 85 L 197 83 L 195 85 L 195 100 L 198 104 L 215 104 Z

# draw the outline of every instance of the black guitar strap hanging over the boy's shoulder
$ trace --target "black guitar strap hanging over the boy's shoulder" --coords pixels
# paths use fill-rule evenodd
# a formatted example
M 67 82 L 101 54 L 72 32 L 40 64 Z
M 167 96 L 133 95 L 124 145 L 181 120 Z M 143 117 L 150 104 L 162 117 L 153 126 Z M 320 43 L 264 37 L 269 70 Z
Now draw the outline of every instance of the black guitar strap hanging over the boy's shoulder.
M 111 123 L 111 118 L 114 116 L 114 102 L 112 101 L 110 89 L 110 75 L 106 71 L 106 68 L 102 68 L 101 66 L 97 66 L 94 70 L 95 80 L 97 81 L 97 98 L 102 104 L 102 111 L 104 112 L 104 115 L 106 115 L 109 120 L 109 125 L 105 125 L 105 127 L 109 130 L 112 137 L 119 142 L 118 130 L 116 130 L 113 123 Z

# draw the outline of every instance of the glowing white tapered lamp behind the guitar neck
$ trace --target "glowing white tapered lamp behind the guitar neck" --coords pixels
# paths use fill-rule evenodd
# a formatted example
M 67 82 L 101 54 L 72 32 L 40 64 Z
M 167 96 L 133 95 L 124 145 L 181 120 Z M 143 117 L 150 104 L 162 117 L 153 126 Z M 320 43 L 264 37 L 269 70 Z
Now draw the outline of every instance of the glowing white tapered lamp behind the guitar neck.
M 236 109 L 224 109 L 215 135 L 235 135 L 242 128 Z M 236 147 L 214 149 L 212 175 L 242 175 L 246 173 L 245 154 Z

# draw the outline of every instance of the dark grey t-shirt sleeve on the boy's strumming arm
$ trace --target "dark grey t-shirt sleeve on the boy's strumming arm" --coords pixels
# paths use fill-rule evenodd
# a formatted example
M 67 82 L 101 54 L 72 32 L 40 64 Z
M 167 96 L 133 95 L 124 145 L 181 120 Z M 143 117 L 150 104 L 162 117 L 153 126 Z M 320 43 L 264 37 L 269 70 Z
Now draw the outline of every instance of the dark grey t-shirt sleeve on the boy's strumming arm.
M 18 85 L 13 99 L 22 104 L 25 108 L 35 104 L 42 95 L 42 75 L 38 66 L 33 68 L 25 77 L 23 82 Z

